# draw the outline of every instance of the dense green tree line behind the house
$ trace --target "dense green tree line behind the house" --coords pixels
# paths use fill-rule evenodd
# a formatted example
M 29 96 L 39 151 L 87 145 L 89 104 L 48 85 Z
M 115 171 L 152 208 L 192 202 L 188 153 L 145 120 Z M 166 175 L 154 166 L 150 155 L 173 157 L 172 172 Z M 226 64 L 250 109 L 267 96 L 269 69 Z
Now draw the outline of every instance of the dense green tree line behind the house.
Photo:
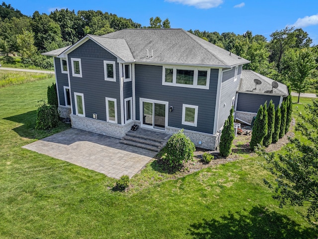
M 23 15 L 10 4 L 0 5 L 0 51 L 5 63 L 20 63 L 52 69 L 51 58 L 40 53 L 72 45 L 86 34 L 104 35 L 125 28 L 170 28 L 168 19 L 151 17 L 149 26 L 142 26 L 132 19 L 100 10 L 56 9 L 50 14 L 35 11 Z M 250 69 L 279 82 L 290 82 L 294 91 L 318 89 L 318 45 L 301 28 L 286 27 L 270 35 L 233 32 L 208 32 L 189 30 L 219 47 L 249 61 L 243 69 Z M 21 56 L 20 60 L 10 57 Z M 293 83 L 294 82 L 294 83 Z

